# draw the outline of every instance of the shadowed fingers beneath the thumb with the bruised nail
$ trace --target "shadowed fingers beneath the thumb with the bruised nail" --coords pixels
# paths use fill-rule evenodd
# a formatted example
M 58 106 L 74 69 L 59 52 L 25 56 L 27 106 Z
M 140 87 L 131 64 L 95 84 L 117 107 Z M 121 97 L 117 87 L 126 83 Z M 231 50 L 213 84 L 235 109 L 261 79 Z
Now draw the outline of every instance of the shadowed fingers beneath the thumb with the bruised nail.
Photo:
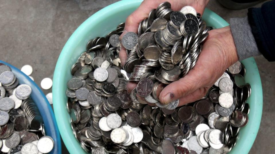
M 208 88 L 199 88 L 195 92 L 180 98 L 180 102 L 178 106 L 183 106 L 185 104 L 200 100 L 201 98 L 203 98 L 203 96 L 205 96 L 205 94 L 207 93 L 207 90 Z

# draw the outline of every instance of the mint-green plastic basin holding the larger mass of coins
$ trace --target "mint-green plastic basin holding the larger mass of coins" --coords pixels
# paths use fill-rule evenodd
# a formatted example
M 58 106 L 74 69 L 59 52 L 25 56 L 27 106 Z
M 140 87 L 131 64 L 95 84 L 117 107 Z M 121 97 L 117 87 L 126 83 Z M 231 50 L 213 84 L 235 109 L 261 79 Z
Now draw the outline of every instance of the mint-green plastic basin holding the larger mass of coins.
M 115 30 L 119 23 L 125 22 L 130 15 L 142 2 L 142 0 L 124 0 L 111 4 L 83 22 L 74 31 L 72 36 L 66 42 L 56 63 L 53 79 L 53 105 L 58 129 L 61 137 L 72 154 L 86 153 L 80 147 L 79 142 L 75 139 L 70 126 L 70 115 L 66 110 L 67 96 L 65 91 L 67 82 L 72 78 L 70 74 L 71 66 L 77 58 L 86 49 L 88 40 L 95 37 L 103 37 L 108 32 Z M 228 26 L 229 24 L 209 9 L 205 9 L 203 19 L 207 25 L 216 28 Z M 247 102 L 250 104 L 250 113 L 248 115 L 248 124 L 241 128 L 236 146 L 230 153 L 248 153 L 252 147 L 262 117 L 262 84 L 259 71 L 254 58 L 248 58 L 242 61 L 246 68 L 245 80 L 250 83 L 252 94 Z

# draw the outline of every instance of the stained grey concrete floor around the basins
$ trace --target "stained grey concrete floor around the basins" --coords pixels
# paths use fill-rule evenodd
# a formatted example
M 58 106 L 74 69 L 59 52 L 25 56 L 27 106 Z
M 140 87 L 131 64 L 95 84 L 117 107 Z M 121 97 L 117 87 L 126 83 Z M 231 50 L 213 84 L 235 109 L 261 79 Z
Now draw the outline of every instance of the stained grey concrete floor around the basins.
M 0 60 L 17 68 L 33 66 L 31 76 L 40 85 L 43 78 L 53 77 L 58 56 L 75 29 L 88 17 L 117 0 L 0 0 Z M 262 3 L 256 5 L 260 7 Z M 247 9 L 229 10 L 211 0 L 207 7 L 226 21 L 245 17 Z M 275 63 L 263 56 L 255 57 L 262 78 L 264 106 L 260 130 L 251 154 L 273 153 L 275 123 Z M 47 94 L 50 90 L 44 90 Z M 62 153 L 68 153 L 65 147 Z

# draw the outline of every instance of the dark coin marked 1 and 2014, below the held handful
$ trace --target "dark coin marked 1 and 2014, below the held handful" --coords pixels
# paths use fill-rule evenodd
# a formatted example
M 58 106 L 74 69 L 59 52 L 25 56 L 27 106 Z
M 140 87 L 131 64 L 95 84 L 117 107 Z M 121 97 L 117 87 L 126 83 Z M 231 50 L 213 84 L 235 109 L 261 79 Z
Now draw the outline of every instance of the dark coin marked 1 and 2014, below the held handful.
M 153 86 L 154 83 L 150 79 L 142 79 L 138 84 L 137 84 L 137 94 L 145 97 L 148 96 L 152 93 L 153 91 Z

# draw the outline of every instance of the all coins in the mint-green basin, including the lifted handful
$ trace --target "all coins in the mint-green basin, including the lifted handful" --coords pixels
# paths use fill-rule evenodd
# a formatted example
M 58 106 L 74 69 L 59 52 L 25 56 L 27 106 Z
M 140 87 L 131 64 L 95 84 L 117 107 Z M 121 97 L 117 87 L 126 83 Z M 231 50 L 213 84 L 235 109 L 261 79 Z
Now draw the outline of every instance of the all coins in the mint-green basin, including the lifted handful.
M 66 90 L 72 130 L 87 153 L 228 153 L 235 145 L 240 127 L 248 123 L 245 101 L 251 94 L 240 62 L 230 66 L 199 101 L 178 107 L 178 100 L 168 105 L 158 100 L 166 84 L 195 65 L 200 43 L 211 29 L 194 8 L 186 6 L 180 12 L 164 2 L 140 23 L 139 38 L 132 32 L 122 38 L 129 49 L 124 69 L 131 73 L 129 81 L 138 82 L 130 94 L 118 58 L 124 23 L 87 43 L 87 51 L 71 68 Z M 198 26 L 194 34 L 190 23 Z

